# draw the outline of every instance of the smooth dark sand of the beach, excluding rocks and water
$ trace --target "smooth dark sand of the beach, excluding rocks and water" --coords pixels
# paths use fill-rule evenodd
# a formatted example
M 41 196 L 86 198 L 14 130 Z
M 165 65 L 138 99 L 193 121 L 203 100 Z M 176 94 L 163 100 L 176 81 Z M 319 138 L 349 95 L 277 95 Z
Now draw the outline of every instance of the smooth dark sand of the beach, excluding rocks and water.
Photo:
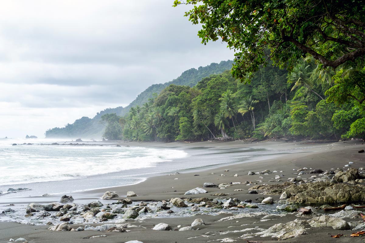
M 131 144 L 133 146 L 141 146 L 141 144 Z M 143 144 L 143 146 L 157 146 L 157 144 Z M 216 143 L 216 142 L 203 142 L 203 143 L 171 143 L 171 144 L 159 144 L 158 146 L 171 147 L 171 148 L 184 148 L 184 147 L 216 147 L 220 149 L 224 148 L 239 148 L 242 146 L 251 146 L 257 148 L 273 148 L 277 150 L 292 151 L 290 154 L 283 154 L 281 156 L 274 156 L 272 158 L 266 158 L 264 160 L 245 162 L 242 164 L 230 164 L 227 166 L 220 166 L 218 168 L 212 168 L 205 171 L 194 171 L 189 173 L 181 173 L 178 175 L 164 175 L 151 177 L 146 181 L 125 187 L 105 188 L 99 190 L 93 190 L 88 192 L 75 193 L 73 197 L 75 200 L 83 198 L 100 198 L 105 191 L 116 191 L 120 196 L 119 199 L 125 198 L 127 191 L 134 191 L 137 193 L 137 197 L 132 197 L 132 200 L 170 200 L 173 197 L 181 197 L 186 191 L 196 187 L 202 187 L 205 182 L 212 182 L 216 184 L 230 183 L 230 182 L 244 182 L 251 181 L 256 182 L 262 180 L 259 184 L 268 184 L 269 180 L 274 180 L 275 175 L 285 175 L 282 177 L 283 181 L 287 181 L 289 177 L 296 177 L 293 175 L 297 169 L 308 167 L 318 168 L 324 170 L 343 168 L 349 161 L 354 162 L 352 165 L 354 168 L 365 167 L 365 153 L 358 153 L 358 150 L 364 149 L 365 145 L 359 141 L 347 141 L 336 143 L 323 143 L 315 144 L 311 142 L 294 142 L 287 143 L 282 141 L 267 142 L 264 144 L 243 144 L 240 142 L 228 142 L 228 143 Z M 222 153 L 219 156 L 226 159 L 229 158 L 229 153 Z M 249 171 L 260 172 L 269 169 L 270 171 L 278 171 L 269 175 L 252 175 L 248 176 Z M 293 171 L 295 169 L 295 171 Z M 229 170 L 224 172 L 224 170 Z M 280 172 L 283 171 L 283 172 Z M 211 173 L 214 173 L 213 175 Z M 237 177 L 234 177 L 235 174 Z M 221 176 L 224 174 L 225 176 Z M 199 176 L 195 176 L 199 175 Z M 263 179 L 260 179 L 262 176 Z M 309 175 L 303 175 L 303 178 L 309 178 Z M 178 180 L 174 180 L 178 178 Z M 234 193 L 234 196 L 240 200 L 252 199 L 258 195 L 247 194 L 248 188 L 244 184 L 232 185 L 226 189 L 219 188 L 205 188 L 208 193 L 200 195 L 189 195 L 190 197 L 211 197 L 213 193 Z M 244 189 L 243 191 L 234 191 L 234 189 Z M 176 191 L 176 192 L 174 192 Z M 260 195 L 261 196 L 261 195 Z M 278 200 L 278 196 L 272 196 L 274 200 Z M 92 201 L 92 200 L 90 200 Z M 111 201 L 112 202 L 112 201 Z M 140 240 L 144 243 L 148 242 L 224 242 L 224 238 L 238 238 L 245 233 L 246 228 L 269 228 L 277 223 L 286 223 L 296 219 L 295 215 L 286 215 L 283 217 L 272 216 L 268 221 L 260 221 L 262 216 L 257 217 L 244 217 L 237 220 L 228 220 L 218 222 L 219 219 L 227 216 L 237 214 L 233 211 L 232 214 L 221 214 L 218 216 L 197 215 L 196 217 L 171 217 L 146 219 L 143 222 L 128 221 L 137 226 L 128 228 L 131 230 L 126 233 L 116 232 L 100 232 L 100 231 L 80 231 L 80 232 L 57 232 L 49 231 L 49 226 L 30 226 L 19 223 L 0 223 L 0 243 L 8 242 L 10 238 L 17 239 L 23 237 L 30 243 L 32 242 L 51 242 L 51 243 L 65 243 L 65 242 L 110 242 L 110 243 L 123 243 L 129 240 Z M 205 222 L 205 226 L 200 226 L 199 231 L 154 231 L 151 228 L 158 223 L 167 223 L 172 228 L 177 228 L 178 225 L 189 226 L 195 218 L 202 218 Z M 353 219 L 352 219 L 353 221 Z M 107 222 L 105 222 L 107 223 Z M 244 224 L 248 224 L 242 226 Z M 99 224 L 101 225 L 101 224 Z M 73 228 L 77 228 L 77 225 L 70 225 Z M 232 227 L 233 226 L 233 227 Z M 228 228 L 229 227 L 229 228 Z M 227 232 L 231 231 L 231 232 Z M 222 232 L 227 232 L 222 234 Z M 339 231 L 334 230 L 331 227 L 310 228 L 308 235 L 298 236 L 296 238 L 285 240 L 285 242 L 361 242 L 361 237 L 351 238 L 349 235 L 352 231 Z M 339 239 L 333 239 L 330 235 L 344 234 Z M 89 237 L 93 235 L 107 235 L 107 237 L 82 239 L 82 237 Z M 205 235 L 205 236 L 201 236 Z M 209 236 L 209 237 L 207 237 Z M 191 239 L 188 239 L 191 238 Z M 247 240 L 256 240 L 259 242 L 272 242 L 275 238 L 271 237 L 255 237 Z M 235 239 L 237 242 L 246 242 L 246 239 Z

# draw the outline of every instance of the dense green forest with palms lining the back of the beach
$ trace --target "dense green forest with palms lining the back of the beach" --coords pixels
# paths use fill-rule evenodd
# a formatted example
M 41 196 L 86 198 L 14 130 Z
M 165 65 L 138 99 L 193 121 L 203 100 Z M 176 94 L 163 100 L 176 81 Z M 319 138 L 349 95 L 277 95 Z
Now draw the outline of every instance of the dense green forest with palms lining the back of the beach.
M 270 63 L 255 72 L 250 83 L 225 71 L 193 87 L 170 85 L 124 116 L 103 115 L 104 137 L 135 141 L 364 137 L 364 74 L 364 68 L 346 67 L 325 72 L 313 58 L 300 60 L 291 72 Z M 358 77 L 358 88 L 347 90 L 353 77 Z

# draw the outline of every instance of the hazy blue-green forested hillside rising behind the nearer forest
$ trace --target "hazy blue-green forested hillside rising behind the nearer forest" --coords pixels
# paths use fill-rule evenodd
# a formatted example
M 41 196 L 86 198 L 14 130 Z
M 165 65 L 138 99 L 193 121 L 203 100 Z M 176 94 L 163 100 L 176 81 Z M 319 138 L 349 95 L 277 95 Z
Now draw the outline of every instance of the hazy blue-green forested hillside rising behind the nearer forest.
M 175 85 L 187 85 L 194 86 L 202 78 L 208 77 L 211 74 L 220 74 L 225 70 L 232 68 L 233 61 L 227 60 L 220 63 L 211 63 L 205 67 L 199 67 L 198 69 L 191 68 L 184 71 L 178 78 L 173 79 L 170 82 L 154 84 L 148 87 L 145 91 L 138 95 L 138 97 L 126 107 L 108 108 L 98 112 L 95 117 L 88 118 L 82 117 L 77 119 L 73 124 L 67 124 L 64 128 L 52 128 L 46 131 L 46 138 L 51 137 L 86 137 L 86 138 L 100 138 L 104 132 L 105 124 L 101 121 L 101 116 L 104 114 L 112 114 L 123 116 L 128 113 L 131 107 L 142 106 L 154 93 L 159 94 L 161 90 L 168 87 L 171 84 Z

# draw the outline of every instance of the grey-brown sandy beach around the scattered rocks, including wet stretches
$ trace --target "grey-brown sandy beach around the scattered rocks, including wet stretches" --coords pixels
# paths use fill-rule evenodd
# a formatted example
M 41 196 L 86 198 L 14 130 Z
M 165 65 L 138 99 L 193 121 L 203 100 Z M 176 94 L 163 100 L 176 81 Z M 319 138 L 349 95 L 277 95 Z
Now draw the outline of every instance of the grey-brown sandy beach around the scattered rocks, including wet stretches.
M 127 144 L 124 144 L 127 145 Z M 128 143 L 129 146 L 141 146 L 138 143 Z M 87 203 L 100 199 L 106 191 L 116 192 L 119 197 L 115 197 L 112 200 L 108 200 L 111 204 L 117 200 L 126 199 L 128 191 L 135 192 L 138 196 L 128 197 L 134 202 L 138 203 L 145 201 L 149 203 L 151 201 L 170 201 L 172 198 L 177 197 L 190 197 L 201 198 L 207 197 L 209 199 L 221 198 L 226 200 L 228 198 L 237 198 L 239 201 L 252 200 L 258 196 L 272 197 L 274 201 L 279 200 L 279 195 L 270 194 L 248 194 L 249 188 L 263 184 L 282 184 L 288 181 L 289 178 L 295 178 L 298 175 L 297 170 L 307 167 L 308 170 L 322 169 L 323 171 L 334 171 L 338 168 L 342 168 L 346 171 L 345 165 L 349 165 L 352 162 L 351 168 L 365 167 L 365 153 L 358 153 L 359 150 L 364 149 L 365 145 L 360 141 L 346 141 L 346 142 L 286 142 L 286 141 L 270 141 L 265 143 L 252 143 L 246 144 L 240 141 L 235 142 L 198 142 L 198 143 L 169 143 L 169 144 L 155 144 L 145 143 L 143 146 L 151 147 L 164 147 L 174 149 L 184 149 L 186 151 L 193 151 L 198 149 L 204 151 L 204 153 L 214 152 L 216 159 L 230 160 L 237 158 L 236 151 L 240 148 L 267 148 L 275 150 L 277 153 L 274 155 L 260 156 L 257 158 L 250 158 L 248 161 L 237 162 L 227 165 L 219 165 L 214 168 L 201 168 L 194 171 L 179 172 L 175 175 L 161 175 L 150 177 L 142 183 L 129 185 L 124 187 L 112 187 L 103 188 L 91 191 L 83 191 L 72 193 L 75 199 L 74 203 Z M 217 152 L 219 150 L 219 152 Z M 231 151 L 231 152 L 230 152 Z M 199 156 L 194 157 L 194 153 L 190 153 L 190 159 L 200 160 L 204 159 L 203 154 L 199 153 Z M 207 157 L 205 157 L 207 158 Z M 208 157 L 209 158 L 209 157 Z M 181 161 L 183 162 L 183 161 Z M 270 173 L 262 173 L 255 175 L 247 175 L 251 172 L 262 172 L 269 170 Z M 277 172 L 274 172 L 277 171 Z M 309 172 L 308 172 L 309 173 Z M 266 174 L 266 175 L 265 175 Z M 235 176 L 237 175 L 237 176 Z M 318 175 L 318 174 L 313 174 Z M 276 176 L 280 176 L 280 182 L 275 180 Z M 311 174 L 301 175 L 301 180 L 310 180 Z M 319 176 L 320 177 L 320 176 Z M 269 182 L 270 181 L 270 182 Z M 243 183 L 249 183 L 249 185 Z M 216 188 L 204 188 L 208 193 L 197 195 L 184 195 L 190 189 L 203 188 L 204 183 L 214 184 L 230 184 L 230 186 L 224 189 Z M 232 183 L 232 184 L 231 184 Z M 237 183 L 237 184 L 236 184 Z M 240 183 L 240 184 L 238 184 Z M 257 183 L 257 184 L 256 184 Z M 358 183 L 364 184 L 364 183 Z M 237 191 L 238 189 L 242 189 Z M 257 190 L 258 193 L 262 191 Z M 215 193 L 224 193 L 229 196 L 213 196 Z M 60 198 L 61 195 L 53 195 Z M 29 198 L 29 203 L 32 200 L 40 202 L 39 197 Z M 105 201 L 105 200 L 104 200 Z M 103 201 L 103 202 L 104 202 Z M 50 203 L 46 197 L 44 197 L 42 203 Z M 257 201 L 256 203 L 258 203 Z M 8 203 L 8 202 L 7 202 Z M 16 203 L 16 202 L 14 202 Z M 9 203 L 8 203 L 9 204 Z M 198 203 L 199 204 L 199 203 Z M 361 203 L 359 203 L 361 204 Z M 1 202 L 3 206 L 4 203 Z M 197 205 L 197 204 L 195 204 Z M 130 223 L 132 226 L 128 227 L 128 232 L 101 232 L 93 230 L 85 231 L 51 231 L 47 230 L 49 225 L 27 225 L 19 223 L 1 222 L 0 223 L 0 242 L 9 242 L 9 239 L 18 239 L 20 237 L 26 239 L 28 242 L 111 242 L 111 243 L 124 243 L 130 240 L 139 240 L 141 242 L 246 242 L 246 240 L 258 241 L 258 242 L 271 242 L 277 240 L 271 236 L 248 236 L 245 234 L 251 234 L 263 229 L 268 229 L 278 223 L 293 222 L 296 219 L 309 220 L 307 217 L 300 217 L 297 212 L 292 213 L 277 213 L 274 211 L 275 207 L 279 205 L 274 203 L 272 205 L 258 205 L 256 211 L 246 211 L 247 208 L 236 208 L 237 210 L 222 211 L 217 209 L 215 213 L 205 213 L 204 207 L 200 208 L 200 211 L 188 217 L 181 217 L 181 214 L 171 213 L 166 217 L 145 217 L 143 219 L 137 218 L 127 219 L 124 223 Z M 104 203 L 105 207 L 105 203 Z M 191 208 L 190 206 L 188 208 Z M 178 208 L 171 208 L 172 211 L 178 211 Z M 209 209 L 209 208 L 208 208 Z M 217 212 L 218 211 L 218 212 Z M 259 212 L 263 212 L 260 214 Z M 338 211 L 335 211 L 338 212 Z M 250 214 L 249 216 L 244 214 Z M 334 212 L 331 212 L 334 213 Z M 241 215 L 239 217 L 231 216 Z M 1 217 L 1 216 L 0 216 Z M 228 217 L 228 218 L 226 218 Z M 231 218 L 229 218 L 231 217 Z M 176 231 L 180 227 L 190 226 L 195 219 L 203 219 L 205 225 L 194 226 L 194 230 Z M 226 218 L 226 219 L 224 219 Z M 358 218 L 345 218 L 346 222 L 362 222 L 360 216 Z M 71 220 L 72 222 L 72 220 Z M 62 222 L 60 222 L 62 223 Z M 87 222 L 85 222 L 87 223 Z M 84 223 L 84 224 L 85 224 Z M 108 223 L 100 222 L 98 224 L 88 223 L 91 226 L 101 226 Z M 169 224 L 172 228 L 170 231 L 151 230 L 155 225 L 159 223 Z M 354 223 L 355 224 L 355 223 Z M 70 227 L 76 229 L 80 224 L 69 224 Z M 350 224 L 352 225 L 352 224 Z M 180 227 L 178 227 L 180 226 Z M 197 230 L 199 228 L 199 230 Z M 353 227 L 351 227 L 353 228 Z M 285 240 L 285 242 L 353 242 L 354 239 L 360 240 L 362 237 L 351 238 L 350 234 L 353 230 L 335 230 L 333 227 L 309 227 L 306 230 L 306 234 L 299 235 L 294 238 Z M 333 239 L 330 235 L 343 234 L 342 237 Z M 83 239 L 83 237 L 91 237 L 97 235 L 97 238 Z

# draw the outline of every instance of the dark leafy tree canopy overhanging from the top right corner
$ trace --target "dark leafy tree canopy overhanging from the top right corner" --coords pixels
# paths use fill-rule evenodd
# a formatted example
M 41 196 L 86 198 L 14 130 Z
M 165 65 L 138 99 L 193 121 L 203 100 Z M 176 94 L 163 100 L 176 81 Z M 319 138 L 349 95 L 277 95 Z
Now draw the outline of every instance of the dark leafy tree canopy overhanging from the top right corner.
M 173 6 L 179 4 L 193 5 L 185 16 L 202 24 L 202 43 L 221 39 L 237 50 L 235 78 L 247 78 L 269 58 L 291 70 L 310 55 L 322 68 L 334 69 L 362 62 L 365 54 L 361 0 L 175 0 Z

